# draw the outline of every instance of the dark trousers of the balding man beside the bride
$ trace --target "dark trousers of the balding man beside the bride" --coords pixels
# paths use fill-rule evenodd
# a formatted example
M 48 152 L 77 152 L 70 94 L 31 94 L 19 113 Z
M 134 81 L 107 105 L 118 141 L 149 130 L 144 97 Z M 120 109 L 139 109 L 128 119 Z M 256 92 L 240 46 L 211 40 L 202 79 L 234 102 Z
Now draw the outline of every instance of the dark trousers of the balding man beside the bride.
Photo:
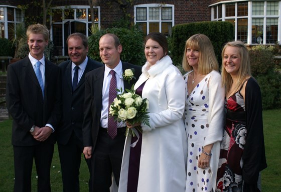
M 91 158 L 93 191 L 109 192 L 112 172 L 118 186 L 124 142 L 125 127 L 117 128 L 117 136 L 113 139 L 108 135 L 106 128 L 99 128 L 97 142 Z

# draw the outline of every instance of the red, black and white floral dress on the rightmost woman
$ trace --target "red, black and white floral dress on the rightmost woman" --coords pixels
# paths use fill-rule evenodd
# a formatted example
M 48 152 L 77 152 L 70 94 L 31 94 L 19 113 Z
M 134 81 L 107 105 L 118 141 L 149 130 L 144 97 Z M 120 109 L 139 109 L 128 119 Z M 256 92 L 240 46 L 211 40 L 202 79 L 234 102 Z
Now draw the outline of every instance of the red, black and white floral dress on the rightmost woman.
M 247 135 L 245 103 L 239 91 L 225 103 L 226 126 L 221 143 L 217 191 L 242 191 L 242 154 Z

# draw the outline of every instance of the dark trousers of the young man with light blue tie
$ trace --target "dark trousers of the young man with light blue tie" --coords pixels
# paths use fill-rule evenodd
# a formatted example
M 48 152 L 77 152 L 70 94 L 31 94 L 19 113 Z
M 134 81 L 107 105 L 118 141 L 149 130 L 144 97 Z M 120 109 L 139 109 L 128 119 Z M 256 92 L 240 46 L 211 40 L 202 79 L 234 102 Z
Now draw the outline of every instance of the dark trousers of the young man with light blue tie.
M 49 192 L 50 169 L 54 153 L 54 144 L 40 142 L 33 146 L 14 145 L 15 185 L 14 192 L 31 191 L 31 173 L 33 159 L 36 165 L 37 191 Z M 35 189 L 33 189 L 35 190 Z

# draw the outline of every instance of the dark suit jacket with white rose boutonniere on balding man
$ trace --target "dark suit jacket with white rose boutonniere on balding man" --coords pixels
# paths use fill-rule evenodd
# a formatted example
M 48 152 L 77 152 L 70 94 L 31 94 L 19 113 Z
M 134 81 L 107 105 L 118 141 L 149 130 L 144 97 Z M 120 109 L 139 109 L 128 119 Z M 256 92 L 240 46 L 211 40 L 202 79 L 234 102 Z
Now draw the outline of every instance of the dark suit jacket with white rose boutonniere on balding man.
M 127 68 L 135 69 L 134 76 L 136 79 L 132 79 L 130 83 L 126 80 L 123 81 L 124 88 L 131 88 L 132 84 L 136 82 L 139 75 L 142 74 L 142 67 L 122 62 L 123 72 Z M 88 72 L 85 77 L 83 142 L 84 146 L 92 146 L 93 150 L 95 148 L 100 126 L 103 76 L 104 66 Z

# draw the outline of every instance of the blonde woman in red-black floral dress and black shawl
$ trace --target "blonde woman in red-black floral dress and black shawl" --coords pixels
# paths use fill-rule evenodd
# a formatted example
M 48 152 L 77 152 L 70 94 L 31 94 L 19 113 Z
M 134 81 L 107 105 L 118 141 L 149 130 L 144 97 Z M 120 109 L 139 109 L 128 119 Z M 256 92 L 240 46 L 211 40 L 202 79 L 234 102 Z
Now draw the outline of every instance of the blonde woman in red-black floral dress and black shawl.
M 226 126 L 217 176 L 218 191 L 257 192 L 259 172 L 266 165 L 261 93 L 250 73 L 242 41 L 222 50 L 222 82 L 226 94 Z

